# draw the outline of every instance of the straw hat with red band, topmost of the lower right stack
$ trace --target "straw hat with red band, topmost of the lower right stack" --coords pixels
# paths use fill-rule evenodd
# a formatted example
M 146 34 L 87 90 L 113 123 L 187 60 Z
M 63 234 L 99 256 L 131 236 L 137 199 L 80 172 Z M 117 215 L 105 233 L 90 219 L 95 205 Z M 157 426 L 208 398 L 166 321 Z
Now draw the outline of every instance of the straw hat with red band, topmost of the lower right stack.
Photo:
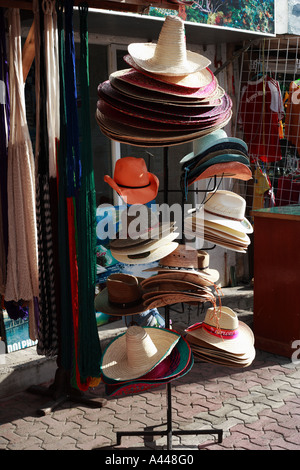
M 186 329 L 194 340 L 199 339 L 217 349 L 233 354 L 249 354 L 253 351 L 254 335 L 251 328 L 239 321 L 229 307 L 208 308 L 203 322 Z

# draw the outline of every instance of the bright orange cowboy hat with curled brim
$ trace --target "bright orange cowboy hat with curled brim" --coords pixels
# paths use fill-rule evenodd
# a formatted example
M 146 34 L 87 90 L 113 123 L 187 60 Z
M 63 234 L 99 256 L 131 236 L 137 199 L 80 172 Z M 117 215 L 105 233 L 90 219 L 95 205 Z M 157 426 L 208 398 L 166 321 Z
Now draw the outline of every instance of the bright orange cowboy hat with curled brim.
M 117 160 L 114 177 L 104 176 L 108 183 L 122 197 L 126 204 L 146 204 L 155 199 L 159 180 L 149 173 L 145 160 L 123 157 Z

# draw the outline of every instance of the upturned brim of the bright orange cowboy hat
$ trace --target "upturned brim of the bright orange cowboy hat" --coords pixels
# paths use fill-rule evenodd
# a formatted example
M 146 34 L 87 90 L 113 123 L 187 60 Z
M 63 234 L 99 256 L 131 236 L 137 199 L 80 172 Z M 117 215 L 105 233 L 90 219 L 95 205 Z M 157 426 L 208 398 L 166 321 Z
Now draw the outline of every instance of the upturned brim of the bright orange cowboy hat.
M 120 187 L 109 175 L 104 176 L 104 181 L 122 197 L 126 204 L 147 204 L 157 196 L 159 180 L 156 175 L 148 172 L 149 186 L 144 188 Z

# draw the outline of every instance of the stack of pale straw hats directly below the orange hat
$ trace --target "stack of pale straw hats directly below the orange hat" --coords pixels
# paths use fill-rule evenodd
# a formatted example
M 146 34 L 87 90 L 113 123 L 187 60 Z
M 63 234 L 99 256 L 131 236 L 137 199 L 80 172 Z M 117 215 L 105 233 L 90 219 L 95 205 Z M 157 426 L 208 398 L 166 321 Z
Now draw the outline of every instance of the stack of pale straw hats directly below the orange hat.
M 128 215 L 133 209 L 139 213 L 138 217 Z M 117 261 L 124 264 L 152 263 L 177 248 L 178 243 L 174 240 L 179 232 L 176 232 L 175 224 L 160 223 L 155 212 L 147 206 L 131 206 L 122 215 L 118 237 L 109 244 L 111 254 Z

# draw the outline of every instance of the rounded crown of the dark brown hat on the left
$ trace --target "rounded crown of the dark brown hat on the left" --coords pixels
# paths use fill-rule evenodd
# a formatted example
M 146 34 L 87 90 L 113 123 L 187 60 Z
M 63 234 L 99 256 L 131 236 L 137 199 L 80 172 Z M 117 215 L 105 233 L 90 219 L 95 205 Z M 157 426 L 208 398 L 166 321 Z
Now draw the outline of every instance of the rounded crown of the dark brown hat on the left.
M 131 274 L 111 274 L 106 281 L 108 298 L 111 303 L 131 304 L 141 298 L 138 279 Z

